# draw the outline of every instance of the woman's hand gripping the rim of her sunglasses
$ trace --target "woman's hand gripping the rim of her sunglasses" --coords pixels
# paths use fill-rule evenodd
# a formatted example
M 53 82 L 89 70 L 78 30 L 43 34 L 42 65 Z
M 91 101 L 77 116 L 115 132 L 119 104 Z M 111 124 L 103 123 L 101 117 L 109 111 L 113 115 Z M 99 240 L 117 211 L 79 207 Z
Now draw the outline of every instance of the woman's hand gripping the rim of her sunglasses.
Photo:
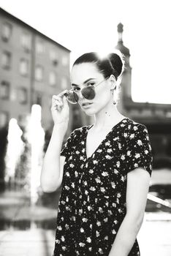
M 66 91 L 67 90 L 62 91 L 60 94 L 53 95 L 52 97 L 51 113 L 53 116 L 54 124 L 68 125 L 69 105 L 66 100 L 66 97 L 63 96 Z

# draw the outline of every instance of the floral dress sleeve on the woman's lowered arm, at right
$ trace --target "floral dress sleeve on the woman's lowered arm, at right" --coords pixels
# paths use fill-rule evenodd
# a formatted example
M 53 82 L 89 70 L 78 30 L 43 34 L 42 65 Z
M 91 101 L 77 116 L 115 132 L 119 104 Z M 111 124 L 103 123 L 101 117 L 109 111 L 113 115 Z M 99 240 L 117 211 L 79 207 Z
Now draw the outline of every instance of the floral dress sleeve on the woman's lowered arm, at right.
M 144 124 L 134 125 L 129 133 L 126 147 L 126 173 L 137 167 L 143 167 L 151 176 L 152 149 L 148 129 Z

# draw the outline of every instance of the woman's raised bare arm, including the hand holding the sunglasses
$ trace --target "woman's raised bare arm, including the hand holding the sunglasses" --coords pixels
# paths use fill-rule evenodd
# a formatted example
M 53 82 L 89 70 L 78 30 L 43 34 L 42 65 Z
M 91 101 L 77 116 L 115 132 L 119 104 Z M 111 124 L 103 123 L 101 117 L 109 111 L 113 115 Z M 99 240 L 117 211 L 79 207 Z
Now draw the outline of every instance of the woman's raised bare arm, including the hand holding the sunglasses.
M 53 95 L 51 112 L 53 132 L 42 163 L 40 184 L 43 192 L 54 192 L 61 187 L 65 157 L 61 156 L 64 135 L 68 127 L 69 106 L 66 97 Z

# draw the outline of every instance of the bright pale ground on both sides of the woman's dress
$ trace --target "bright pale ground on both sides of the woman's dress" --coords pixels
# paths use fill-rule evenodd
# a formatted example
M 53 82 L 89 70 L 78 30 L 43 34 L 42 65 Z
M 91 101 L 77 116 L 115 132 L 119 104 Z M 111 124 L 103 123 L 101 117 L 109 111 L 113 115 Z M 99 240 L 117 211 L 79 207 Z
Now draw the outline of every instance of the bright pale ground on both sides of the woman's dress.
M 145 221 L 137 240 L 141 256 L 171 255 L 171 222 Z M 0 256 L 52 256 L 54 230 L 0 231 Z

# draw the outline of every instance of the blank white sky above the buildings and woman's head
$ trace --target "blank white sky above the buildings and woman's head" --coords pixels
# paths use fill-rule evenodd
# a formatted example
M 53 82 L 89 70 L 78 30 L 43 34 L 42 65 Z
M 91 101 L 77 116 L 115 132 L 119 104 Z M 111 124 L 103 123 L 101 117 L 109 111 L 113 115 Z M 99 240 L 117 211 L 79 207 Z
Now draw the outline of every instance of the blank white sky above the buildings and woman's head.
M 170 0 L 0 0 L 0 7 L 81 54 L 112 52 L 123 23 L 130 50 L 132 99 L 171 104 Z

